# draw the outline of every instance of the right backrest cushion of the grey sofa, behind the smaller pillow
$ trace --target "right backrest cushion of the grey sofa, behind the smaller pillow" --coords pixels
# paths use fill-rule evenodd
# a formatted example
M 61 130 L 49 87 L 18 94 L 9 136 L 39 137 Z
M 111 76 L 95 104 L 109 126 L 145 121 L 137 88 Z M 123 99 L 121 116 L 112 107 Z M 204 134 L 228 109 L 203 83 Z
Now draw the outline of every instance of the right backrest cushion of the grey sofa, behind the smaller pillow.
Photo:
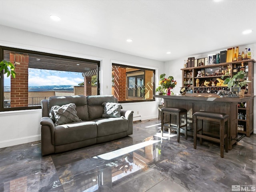
M 94 95 L 87 96 L 89 120 L 102 118 L 104 102 L 117 103 L 117 99 L 113 95 Z

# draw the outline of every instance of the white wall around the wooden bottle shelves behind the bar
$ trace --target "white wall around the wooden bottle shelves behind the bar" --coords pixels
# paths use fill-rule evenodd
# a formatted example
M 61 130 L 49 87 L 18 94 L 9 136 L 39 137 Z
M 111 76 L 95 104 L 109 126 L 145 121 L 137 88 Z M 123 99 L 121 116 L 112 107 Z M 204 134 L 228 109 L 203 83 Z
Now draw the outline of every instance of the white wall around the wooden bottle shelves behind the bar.
M 228 49 L 230 47 L 227 47 L 226 49 Z M 242 51 L 245 52 L 245 48 L 250 48 L 251 49 L 251 58 L 253 58 L 254 60 L 256 60 L 256 43 L 254 44 L 249 44 L 249 45 L 241 45 L 239 46 L 239 52 Z M 174 93 L 178 93 L 179 92 L 179 88 L 182 86 L 182 72 L 181 72 L 181 68 L 183 68 L 183 64 L 184 64 L 184 60 L 187 60 L 189 57 L 195 57 L 196 59 L 199 58 L 205 58 L 207 57 L 208 54 L 214 54 L 214 53 L 219 53 L 220 51 L 226 50 L 226 49 L 222 49 L 222 50 L 216 50 L 213 52 L 209 52 L 209 53 L 205 53 L 205 54 L 200 54 L 200 55 L 190 55 L 187 56 L 186 58 L 181 58 L 178 60 L 172 60 L 172 61 L 168 61 L 165 62 L 165 66 L 164 66 L 164 73 L 166 74 L 166 76 L 173 76 L 174 80 L 177 80 L 177 86 L 176 88 L 173 89 Z M 182 65 L 182 66 L 181 66 Z M 175 66 L 175 67 L 174 67 Z M 254 64 L 254 95 L 256 94 L 256 64 Z M 254 133 L 256 134 L 256 99 L 254 99 Z

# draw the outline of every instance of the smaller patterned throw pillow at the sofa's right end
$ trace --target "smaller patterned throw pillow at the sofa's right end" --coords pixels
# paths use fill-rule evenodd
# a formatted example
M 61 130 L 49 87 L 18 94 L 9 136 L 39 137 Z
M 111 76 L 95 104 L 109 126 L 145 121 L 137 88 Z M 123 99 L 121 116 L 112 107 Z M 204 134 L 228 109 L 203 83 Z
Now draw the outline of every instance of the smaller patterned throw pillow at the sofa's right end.
M 121 107 L 122 107 L 121 104 L 104 102 L 102 103 L 102 105 L 104 106 L 102 117 L 120 117 L 121 116 Z

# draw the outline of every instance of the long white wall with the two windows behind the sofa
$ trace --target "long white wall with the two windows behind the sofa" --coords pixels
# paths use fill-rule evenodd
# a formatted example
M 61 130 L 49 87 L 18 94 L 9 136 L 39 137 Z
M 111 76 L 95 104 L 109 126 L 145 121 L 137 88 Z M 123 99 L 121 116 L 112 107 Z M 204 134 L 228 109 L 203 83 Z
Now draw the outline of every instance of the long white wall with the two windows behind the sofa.
M 0 25 L 0 45 L 78 58 L 100 60 L 100 94 L 111 94 L 112 62 L 164 71 L 164 62 L 123 54 L 94 46 L 51 38 Z M 158 117 L 158 101 L 123 104 L 142 120 Z M 0 148 L 40 140 L 41 110 L 0 112 Z

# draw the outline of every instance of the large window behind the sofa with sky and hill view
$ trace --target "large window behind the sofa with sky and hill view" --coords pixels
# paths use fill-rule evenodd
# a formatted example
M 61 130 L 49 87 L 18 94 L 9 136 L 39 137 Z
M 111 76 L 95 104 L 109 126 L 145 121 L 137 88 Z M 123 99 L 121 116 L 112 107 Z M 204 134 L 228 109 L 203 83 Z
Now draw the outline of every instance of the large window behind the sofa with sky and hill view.
M 0 60 L 15 67 L 16 78 L 1 72 L 0 111 L 41 108 L 49 96 L 99 94 L 99 61 L 1 47 Z

